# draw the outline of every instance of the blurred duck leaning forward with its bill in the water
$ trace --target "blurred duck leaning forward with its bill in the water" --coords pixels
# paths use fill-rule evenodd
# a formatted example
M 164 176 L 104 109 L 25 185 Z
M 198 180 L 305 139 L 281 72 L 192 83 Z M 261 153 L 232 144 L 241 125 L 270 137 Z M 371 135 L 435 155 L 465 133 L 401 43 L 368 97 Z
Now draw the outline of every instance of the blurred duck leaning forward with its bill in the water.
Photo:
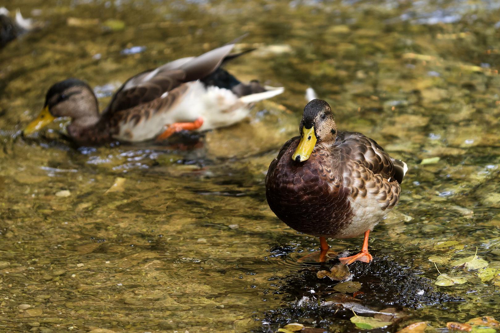
M 257 80 L 239 81 L 222 66 L 250 50 L 230 53 L 235 42 L 138 73 L 126 80 L 99 113 L 90 86 L 77 78 L 53 84 L 29 135 L 68 117 L 67 136 L 77 145 L 162 141 L 181 130 L 206 131 L 243 120 L 254 102 L 283 92 Z

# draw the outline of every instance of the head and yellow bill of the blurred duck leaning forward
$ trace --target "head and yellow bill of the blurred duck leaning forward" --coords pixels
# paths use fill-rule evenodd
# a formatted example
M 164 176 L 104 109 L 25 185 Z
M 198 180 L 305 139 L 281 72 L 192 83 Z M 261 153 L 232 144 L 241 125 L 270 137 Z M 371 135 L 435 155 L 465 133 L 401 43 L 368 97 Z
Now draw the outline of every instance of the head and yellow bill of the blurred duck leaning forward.
M 82 126 L 99 119 L 97 99 L 85 82 L 69 78 L 52 85 L 45 95 L 40 114 L 26 126 L 23 133 L 27 135 L 38 131 L 60 117 L 69 117 L 71 123 Z

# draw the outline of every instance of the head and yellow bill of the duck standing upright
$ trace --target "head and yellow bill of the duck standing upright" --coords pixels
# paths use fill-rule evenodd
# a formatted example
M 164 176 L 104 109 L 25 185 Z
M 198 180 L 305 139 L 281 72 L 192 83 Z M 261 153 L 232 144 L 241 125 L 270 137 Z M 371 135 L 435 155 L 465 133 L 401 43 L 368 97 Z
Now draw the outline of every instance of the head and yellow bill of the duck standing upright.
M 328 103 L 322 99 L 313 99 L 307 103 L 298 129 L 301 135 L 300 142 L 291 155 L 291 159 L 295 162 L 306 161 L 319 143 L 333 144 L 337 134 L 337 125 Z

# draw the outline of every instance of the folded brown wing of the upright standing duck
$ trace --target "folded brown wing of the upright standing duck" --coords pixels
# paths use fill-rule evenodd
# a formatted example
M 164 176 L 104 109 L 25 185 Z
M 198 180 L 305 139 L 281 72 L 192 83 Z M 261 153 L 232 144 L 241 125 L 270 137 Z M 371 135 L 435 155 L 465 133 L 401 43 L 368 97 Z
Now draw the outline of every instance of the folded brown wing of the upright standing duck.
M 400 184 L 407 170 L 403 161 L 390 157 L 375 140 L 361 133 L 337 132 L 334 147 L 373 174 L 379 174 L 389 181 L 396 180 Z

